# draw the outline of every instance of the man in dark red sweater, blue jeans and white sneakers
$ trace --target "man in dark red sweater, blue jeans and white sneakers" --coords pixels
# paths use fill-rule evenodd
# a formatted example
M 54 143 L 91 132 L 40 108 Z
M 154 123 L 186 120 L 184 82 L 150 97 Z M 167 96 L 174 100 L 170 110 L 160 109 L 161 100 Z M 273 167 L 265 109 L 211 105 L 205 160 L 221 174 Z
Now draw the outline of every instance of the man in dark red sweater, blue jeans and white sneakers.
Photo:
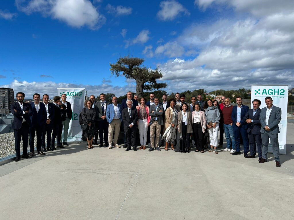
M 227 140 L 227 147 L 222 151 L 230 151 L 230 153 L 235 153 L 235 137 L 233 129 L 233 120 L 231 118 L 233 111 L 233 106 L 231 105 L 231 99 L 225 98 L 225 107 L 223 107 L 223 127 L 225 131 L 225 139 Z M 232 149 L 232 150 L 230 150 Z

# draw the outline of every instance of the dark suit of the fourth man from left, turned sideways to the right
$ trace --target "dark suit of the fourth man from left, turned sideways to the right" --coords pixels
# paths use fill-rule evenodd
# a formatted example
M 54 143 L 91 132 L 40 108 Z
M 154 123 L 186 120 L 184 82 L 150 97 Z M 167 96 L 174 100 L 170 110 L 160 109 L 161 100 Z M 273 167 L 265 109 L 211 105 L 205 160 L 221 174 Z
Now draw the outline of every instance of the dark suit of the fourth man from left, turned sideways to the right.
M 53 103 L 54 107 L 54 120 L 53 120 L 53 131 L 51 137 L 51 148 L 54 149 L 55 147 L 55 138 L 56 138 L 56 145 L 58 147 L 61 145 L 61 131 L 62 131 L 62 121 L 66 120 L 65 115 L 65 105 L 62 105 L 64 109 L 55 103 Z

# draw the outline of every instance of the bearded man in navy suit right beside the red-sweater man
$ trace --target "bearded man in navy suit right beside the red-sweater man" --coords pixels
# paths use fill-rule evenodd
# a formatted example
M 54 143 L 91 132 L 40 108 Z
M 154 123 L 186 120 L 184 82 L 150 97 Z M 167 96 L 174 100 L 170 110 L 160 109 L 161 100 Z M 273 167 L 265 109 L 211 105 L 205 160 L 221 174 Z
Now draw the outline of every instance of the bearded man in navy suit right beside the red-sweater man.
M 240 149 L 240 134 L 243 139 L 243 147 L 244 147 L 244 157 L 248 156 L 249 151 L 249 143 L 248 143 L 248 133 L 247 133 L 247 123 L 244 121 L 244 116 L 247 114 L 249 107 L 242 105 L 242 98 L 236 98 L 237 105 L 233 107 L 231 118 L 233 120 L 233 129 L 236 143 L 236 150 L 232 153 L 232 155 L 241 154 Z

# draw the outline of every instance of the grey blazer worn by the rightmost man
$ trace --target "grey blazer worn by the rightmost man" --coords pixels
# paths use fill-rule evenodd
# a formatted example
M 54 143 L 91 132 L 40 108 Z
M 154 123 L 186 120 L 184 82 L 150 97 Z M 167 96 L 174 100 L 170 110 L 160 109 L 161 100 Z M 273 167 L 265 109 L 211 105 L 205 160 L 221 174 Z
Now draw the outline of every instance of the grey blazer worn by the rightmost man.
M 266 109 L 267 108 L 268 107 L 262 108 L 261 112 L 260 112 L 260 116 L 259 116 L 259 121 L 260 121 L 260 124 L 261 124 L 261 128 L 260 128 L 261 133 L 265 132 L 264 127 L 266 126 L 265 118 L 266 118 Z M 279 107 L 273 105 L 273 109 L 270 112 L 270 116 L 269 116 L 269 119 L 268 119 L 268 127 L 270 128 L 270 133 L 271 134 L 280 133 L 279 123 L 281 121 L 281 117 L 282 117 L 282 110 Z

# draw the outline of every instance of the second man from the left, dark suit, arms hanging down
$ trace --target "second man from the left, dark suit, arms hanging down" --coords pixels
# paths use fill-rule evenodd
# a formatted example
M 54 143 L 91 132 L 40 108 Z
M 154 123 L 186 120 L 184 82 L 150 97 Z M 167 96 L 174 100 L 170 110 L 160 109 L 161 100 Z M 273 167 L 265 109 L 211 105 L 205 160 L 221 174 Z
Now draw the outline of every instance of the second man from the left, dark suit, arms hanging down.
M 35 133 L 37 134 L 37 143 L 36 143 L 36 148 L 37 152 L 40 155 L 45 155 L 42 152 L 42 132 L 44 128 L 44 124 L 46 123 L 47 120 L 47 112 L 45 105 L 40 102 L 40 94 L 35 93 L 33 95 L 34 102 L 31 102 L 32 106 L 32 116 L 31 122 L 32 122 L 32 127 L 29 129 L 30 133 L 30 139 L 29 139 L 29 144 L 30 144 L 30 156 L 34 157 L 34 139 L 35 139 Z

